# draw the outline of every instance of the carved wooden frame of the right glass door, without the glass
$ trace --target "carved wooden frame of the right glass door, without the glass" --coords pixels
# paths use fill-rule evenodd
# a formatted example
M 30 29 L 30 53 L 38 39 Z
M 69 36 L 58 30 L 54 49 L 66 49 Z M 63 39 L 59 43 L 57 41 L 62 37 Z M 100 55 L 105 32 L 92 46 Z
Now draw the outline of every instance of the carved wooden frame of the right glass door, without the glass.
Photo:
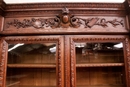
M 76 57 L 75 57 L 75 42 L 123 42 L 124 44 L 124 62 L 125 62 L 125 70 L 126 70 L 126 84 L 127 87 L 129 87 L 129 81 L 130 79 L 128 78 L 130 76 L 129 74 L 129 44 L 128 44 L 128 38 L 125 36 L 98 36 L 98 35 L 79 35 L 79 36 L 69 36 L 70 39 L 70 49 L 71 49 L 71 56 L 70 56 L 70 62 L 71 62 L 71 87 L 76 86 Z M 125 55 L 126 54 L 126 55 Z M 122 64 L 121 64 L 122 65 Z M 82 65 L 81 65 L 82 66 Z M 85 65 L 84 67 L 106 67 L 106 66 L 119 66 L 116 64 L 108 64 L 108 65 L 103 65 L 103 64 L 93 64 L 93 65 Z

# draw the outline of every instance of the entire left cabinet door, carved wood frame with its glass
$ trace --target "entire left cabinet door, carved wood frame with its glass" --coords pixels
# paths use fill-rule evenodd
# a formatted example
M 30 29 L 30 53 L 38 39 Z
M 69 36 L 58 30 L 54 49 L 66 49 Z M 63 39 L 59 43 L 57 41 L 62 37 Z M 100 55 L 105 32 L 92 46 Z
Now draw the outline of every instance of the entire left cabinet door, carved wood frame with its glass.
M 64 87 L 62 36 L 1 40 L 1 87 Z

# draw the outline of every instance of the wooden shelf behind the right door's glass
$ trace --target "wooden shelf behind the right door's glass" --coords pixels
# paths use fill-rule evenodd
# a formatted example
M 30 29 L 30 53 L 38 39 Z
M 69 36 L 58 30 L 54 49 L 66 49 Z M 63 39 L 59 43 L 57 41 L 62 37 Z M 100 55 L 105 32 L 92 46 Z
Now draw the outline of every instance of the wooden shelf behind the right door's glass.
M 111 66 L 124 66 L 124 63 L 87 63 L 76 64 L 76 67 L 111 67 Z

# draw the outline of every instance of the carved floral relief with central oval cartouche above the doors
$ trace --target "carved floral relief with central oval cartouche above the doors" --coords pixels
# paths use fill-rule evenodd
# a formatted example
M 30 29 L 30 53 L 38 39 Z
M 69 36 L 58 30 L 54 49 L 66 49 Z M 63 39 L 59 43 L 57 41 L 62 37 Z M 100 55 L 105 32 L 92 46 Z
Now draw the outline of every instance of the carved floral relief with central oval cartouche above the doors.
M 122 26 L 124 27 L 123 20 L 113 19 L 107 21 L 105 18 L 79 18 L 70 14 L 69 9 L 63 8 L 62 13 L 57 15 L 55 18 L 32 18 L 32 19 L 23 19 L 22 21 L 18 19 L 13 19 L 13 21 L 7 22 L 7 28 L 10 26 L 19 28 L 29 28 L 34 27 L 36 29 L 45 29 L 51 27 L 55 28 L 78 28 L 80 26 L 84 26 L 84 28 L 92 28 L 95 25 L 101 26 L 103 28 L 109 27 L 109 25 L 113 27 Z

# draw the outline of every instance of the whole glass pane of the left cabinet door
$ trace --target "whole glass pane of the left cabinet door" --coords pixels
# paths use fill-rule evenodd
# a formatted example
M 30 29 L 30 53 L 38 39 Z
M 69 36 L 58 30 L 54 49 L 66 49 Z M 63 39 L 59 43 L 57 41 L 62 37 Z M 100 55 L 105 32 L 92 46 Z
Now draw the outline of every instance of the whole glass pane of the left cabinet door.
M 6 87 L 56 87 L 56 43 L 9 44 Z

